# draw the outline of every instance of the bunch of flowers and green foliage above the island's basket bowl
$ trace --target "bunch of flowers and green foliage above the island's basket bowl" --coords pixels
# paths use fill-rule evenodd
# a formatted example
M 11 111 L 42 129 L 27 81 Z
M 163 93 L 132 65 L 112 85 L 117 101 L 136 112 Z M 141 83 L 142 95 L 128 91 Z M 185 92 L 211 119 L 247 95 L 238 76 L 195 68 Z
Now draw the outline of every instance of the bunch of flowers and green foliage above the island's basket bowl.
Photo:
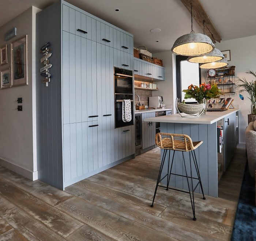
M 219 98 L 221 90 L 218 88 L 217 84 L 200 84 L 189 85 L 188 89 L 184 89 L 182 92 L 185 92 L 184 99 L 194 98 L 198 103 L 202 103 L 203 99 L 206 100 L 211 98 Z

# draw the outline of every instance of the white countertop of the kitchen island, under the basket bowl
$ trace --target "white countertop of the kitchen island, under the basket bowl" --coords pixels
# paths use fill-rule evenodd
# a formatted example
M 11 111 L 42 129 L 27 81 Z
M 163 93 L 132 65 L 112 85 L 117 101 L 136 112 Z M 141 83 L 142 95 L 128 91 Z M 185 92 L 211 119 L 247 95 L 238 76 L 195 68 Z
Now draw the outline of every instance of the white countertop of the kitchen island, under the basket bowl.
M 239 109 L 230 109 L 226 111 L 206 112 L 199 117 L 181 117 L 179 114 L 165 115 L 144 119 L 146 122 L 165 122 L 165 123 L 189 123 L 189 124 L 212 124 L 218 120 L 237 112 Z

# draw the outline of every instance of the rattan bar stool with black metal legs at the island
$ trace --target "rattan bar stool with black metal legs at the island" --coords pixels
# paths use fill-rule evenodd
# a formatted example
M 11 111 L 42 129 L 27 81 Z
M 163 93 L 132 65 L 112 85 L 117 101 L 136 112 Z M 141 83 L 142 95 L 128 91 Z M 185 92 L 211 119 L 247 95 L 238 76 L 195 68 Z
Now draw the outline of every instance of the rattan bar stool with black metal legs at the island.
M 164 151 L 163 151 L 163 157 L 162 157 L 162 161 L 161 161 L 161 165 L 160 165 L 160 169 L 159 169 L 159 174 L 158 174 L 158 178 L 157 178 L 157 185 L 155 187 L 155 193 L 154 193 L 154 198 L 153 198 L 153 202 L 151 204 L 151 207 L 154 207 L 154 200 L 155 200 L 155 195 L 157 194 L 157 188 L 158 187 L 164 187 L 164 188 L 166 188 L 166 190 L 169 190 L 169 183 L 170 183 L 171 175 L 187 177 L 187 181 L 188 181 L 189 178 L 191 179 L 191 189 L 192 190 L 190 190 L 189 181 L 188 181 L 188 191 L 178 190 L 176 188 L 170 188 L 170 189 L 189 193 L 190 200 L 191 200 L 192 211 L 193 211 L 193 220 L 194 221 L 196 220 L 194 191 L 195 191 L 195 189 L 197 188 L 197 186 L 199 184 L 200 184 L 200 187 L 201 187 L 201 190 L 202 190 L 203 199 L 204 200 L 206 199 L 204 197 L 203 186 L 202 186 L 202 182 L 201 182 L 201 177 L 200 177 L 199 168 L 198 168 L 197 160 L 196 160 L 196 153 L 195 153 L 195 149 L 197 147 L 199 147 L 202 143 L 203 143 L 203 141 L 196 141 L 196 142 L 194 141 L 193 142 L 188 135 L 184 135 L 184 134 L 157 133 L 155 135 L 155 144 L 157 146 L 159 146 L 161 149 L 164 149 Z M 162 174 L 162 171 L 163 171 L 163 165 L 165 163 L 166 153 L 167 153 L 168 150 L 169 150 L 168 169 L 167 169 L 168 172 L 161 179 L 161 174 Z M 173 150 L 173 157 L 172 157 L 172 164 L 171 164 L 171 168 L 170 168 L 170 151 L 171 150 Z M 174 159 L 174 154 L 175 154 L 176 151 L 182 152 L 182 159 L 183 159 L 183 162 L 184 162 L 186 176 L 172 173 L 173 159 Z M 188 176 L 188 173 L 187 173 L 187 167 L 186 167 L 186 163 L 185 163 L 185 159 L 184 159 L 184 152 L 189 152 L 190 176 Z M 192 177 L 191 154 L 192 154 L 192 157 L 193 157 L 193 163 L 195 165 L 197 178 Z M 167 176 L 167 186 L 165 187 L 165 186 L 159 185 L 159 183 L 166 176 Z M 193 179 L 198 180 L 198 183 L 196 184 L 195 188 L 193 187 Z M 192 196 L 191 196 L 191 191 L 192 191 Z

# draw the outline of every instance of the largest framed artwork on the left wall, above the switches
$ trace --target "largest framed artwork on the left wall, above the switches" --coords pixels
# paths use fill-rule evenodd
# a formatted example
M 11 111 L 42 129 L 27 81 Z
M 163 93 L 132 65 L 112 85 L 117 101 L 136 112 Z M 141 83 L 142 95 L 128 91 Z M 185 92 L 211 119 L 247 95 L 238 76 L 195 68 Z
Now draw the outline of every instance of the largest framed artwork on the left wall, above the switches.
M 27 85 L 27 35 L 11 43 L 11 86 Z

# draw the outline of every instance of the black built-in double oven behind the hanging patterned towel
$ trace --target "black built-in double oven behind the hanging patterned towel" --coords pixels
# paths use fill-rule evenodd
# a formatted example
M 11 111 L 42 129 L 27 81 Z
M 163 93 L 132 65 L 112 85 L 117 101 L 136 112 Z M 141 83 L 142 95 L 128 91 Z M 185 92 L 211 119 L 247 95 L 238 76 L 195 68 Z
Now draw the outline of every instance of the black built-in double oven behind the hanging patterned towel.
M 131 126 L 134 123 L 133 72 L 114 67 L 115 128 Z M 131 121 L 123 121 L 123 100 L 131 100 Z

